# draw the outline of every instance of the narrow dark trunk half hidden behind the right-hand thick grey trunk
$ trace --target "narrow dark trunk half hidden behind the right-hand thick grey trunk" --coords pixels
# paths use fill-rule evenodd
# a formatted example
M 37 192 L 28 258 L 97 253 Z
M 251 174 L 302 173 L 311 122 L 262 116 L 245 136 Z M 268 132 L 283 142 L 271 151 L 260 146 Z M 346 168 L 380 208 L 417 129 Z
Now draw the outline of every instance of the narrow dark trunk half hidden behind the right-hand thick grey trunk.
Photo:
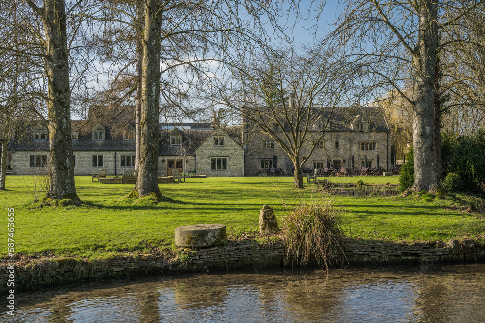
M 435 164 L 436 164 L 436 176 L 438 180 L 443 179 L 443 165 L 441 162 L 441 95 L 439 92 L 439 74 L 441 73 L 439 57 L 436 58 L 435 66 L 435 83 L 434 83 L 434 134 L 433 134 L 433 145 L 435 146 Z

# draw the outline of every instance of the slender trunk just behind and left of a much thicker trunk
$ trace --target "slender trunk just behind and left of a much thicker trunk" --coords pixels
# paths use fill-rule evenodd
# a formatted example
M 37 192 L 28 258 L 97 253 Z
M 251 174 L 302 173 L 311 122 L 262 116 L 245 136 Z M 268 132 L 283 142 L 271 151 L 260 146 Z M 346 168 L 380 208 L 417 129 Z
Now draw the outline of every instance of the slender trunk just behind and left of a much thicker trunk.
M 143 35 L 143 3 L 137 0 L 136 3 L 136 97 L 135 97 L 135 170 L 138 170 L 140 164 L 140 116 L 142 114 L 142 35 Z

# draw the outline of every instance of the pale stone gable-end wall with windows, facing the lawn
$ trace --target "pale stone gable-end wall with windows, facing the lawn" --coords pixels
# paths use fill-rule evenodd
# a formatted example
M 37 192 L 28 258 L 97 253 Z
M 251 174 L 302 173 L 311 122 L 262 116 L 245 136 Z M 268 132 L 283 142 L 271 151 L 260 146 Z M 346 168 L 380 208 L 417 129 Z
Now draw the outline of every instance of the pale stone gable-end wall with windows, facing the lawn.
M 223 137 L 224 145 L 214 145 L 215 137 Z M 227 169 L 212 169 L 212 158 L 226 159 Z M 221 128 L 214 130 L 196 149 L 195 162 L 198 175 L 244 176 L 244 150 Z

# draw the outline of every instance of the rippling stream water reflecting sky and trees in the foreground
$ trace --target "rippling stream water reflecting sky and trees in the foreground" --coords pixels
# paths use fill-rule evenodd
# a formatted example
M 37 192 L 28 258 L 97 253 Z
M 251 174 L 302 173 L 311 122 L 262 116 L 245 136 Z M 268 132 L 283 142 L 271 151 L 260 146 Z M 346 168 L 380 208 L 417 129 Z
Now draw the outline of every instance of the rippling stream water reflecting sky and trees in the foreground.
M 146 277 L 17 293 L 16 304 L 0 322 L 482 323 L 485 265 Z

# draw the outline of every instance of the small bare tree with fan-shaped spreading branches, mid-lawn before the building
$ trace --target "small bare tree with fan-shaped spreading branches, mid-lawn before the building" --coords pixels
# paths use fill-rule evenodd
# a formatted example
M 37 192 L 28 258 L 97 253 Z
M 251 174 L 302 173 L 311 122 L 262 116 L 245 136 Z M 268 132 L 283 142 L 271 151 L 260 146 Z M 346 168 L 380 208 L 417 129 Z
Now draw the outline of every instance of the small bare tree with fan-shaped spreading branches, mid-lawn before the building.
M 280 145 L 293 162 L 294 187 L 303 188 L 302 166 L 330 127 L 334 108 L 352 89 L 333 53 L 322 48 L 302 54 L 289 48 L 262 56 L 234 69 L 237 79 L 226 84 L 213 79 L 210 91 L 215 105 L 242 116 L 243 127 Z M 302 155 L 305 147 L 310 148 Z

